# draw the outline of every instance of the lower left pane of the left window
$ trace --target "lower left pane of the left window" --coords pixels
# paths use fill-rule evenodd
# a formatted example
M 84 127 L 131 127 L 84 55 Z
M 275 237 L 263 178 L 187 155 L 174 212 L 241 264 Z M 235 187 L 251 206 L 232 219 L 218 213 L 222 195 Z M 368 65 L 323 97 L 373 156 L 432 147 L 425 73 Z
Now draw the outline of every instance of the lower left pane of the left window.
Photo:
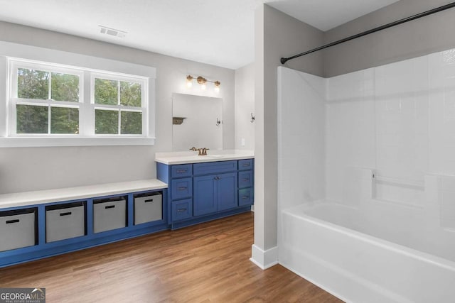
M 48 133 L 48 106 L 16 106 L 16 133 Z

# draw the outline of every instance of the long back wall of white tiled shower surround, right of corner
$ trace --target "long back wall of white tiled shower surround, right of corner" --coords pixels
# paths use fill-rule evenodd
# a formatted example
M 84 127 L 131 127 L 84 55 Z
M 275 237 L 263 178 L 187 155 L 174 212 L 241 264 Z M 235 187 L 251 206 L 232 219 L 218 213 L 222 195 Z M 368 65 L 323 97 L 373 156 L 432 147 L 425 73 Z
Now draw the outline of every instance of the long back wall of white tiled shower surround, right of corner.
M 422 205 L 425 175 L 455 174 L 454 88 L 454 50 L 328 79 L 326 198 L 368 167 L 379 198 Z

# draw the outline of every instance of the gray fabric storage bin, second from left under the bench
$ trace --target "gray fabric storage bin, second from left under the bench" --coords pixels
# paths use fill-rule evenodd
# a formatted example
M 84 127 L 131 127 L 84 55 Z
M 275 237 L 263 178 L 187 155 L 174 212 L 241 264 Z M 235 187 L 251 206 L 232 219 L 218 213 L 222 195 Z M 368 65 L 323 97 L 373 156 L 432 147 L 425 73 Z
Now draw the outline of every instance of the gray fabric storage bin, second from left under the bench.
M 85 236 L 85 207 L 83 202 L 46 206 L 46 243 L 80 236 Z

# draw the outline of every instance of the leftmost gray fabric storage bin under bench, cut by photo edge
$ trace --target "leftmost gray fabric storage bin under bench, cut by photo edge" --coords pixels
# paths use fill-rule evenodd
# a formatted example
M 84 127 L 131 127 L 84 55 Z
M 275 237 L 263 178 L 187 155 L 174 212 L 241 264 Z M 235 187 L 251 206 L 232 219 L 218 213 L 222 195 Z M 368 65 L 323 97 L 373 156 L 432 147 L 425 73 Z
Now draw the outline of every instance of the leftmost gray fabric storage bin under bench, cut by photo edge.
M 36 208 L 0 211 L 0 251 L 36 244 Z

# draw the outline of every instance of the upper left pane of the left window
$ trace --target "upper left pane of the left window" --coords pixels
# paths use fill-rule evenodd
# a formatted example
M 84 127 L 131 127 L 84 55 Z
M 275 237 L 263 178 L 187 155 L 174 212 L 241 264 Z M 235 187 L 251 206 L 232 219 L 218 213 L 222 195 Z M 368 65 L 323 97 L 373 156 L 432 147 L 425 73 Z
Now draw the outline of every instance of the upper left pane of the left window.
M 43 70 L 17 70 L 17 97 L 24 99 L 48 99 L 49 72 Z

